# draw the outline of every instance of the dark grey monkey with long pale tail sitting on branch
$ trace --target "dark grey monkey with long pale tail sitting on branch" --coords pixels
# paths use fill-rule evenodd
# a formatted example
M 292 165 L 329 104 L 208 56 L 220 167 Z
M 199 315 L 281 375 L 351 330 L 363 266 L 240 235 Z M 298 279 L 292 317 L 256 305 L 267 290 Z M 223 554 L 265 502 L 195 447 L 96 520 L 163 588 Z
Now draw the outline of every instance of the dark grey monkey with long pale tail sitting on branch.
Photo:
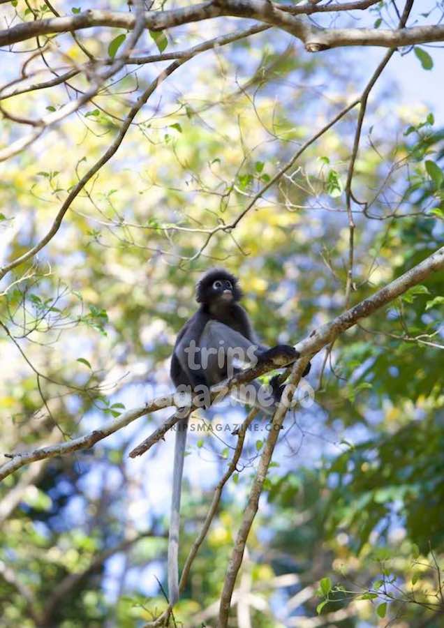
M 197 387 L 211 387 L 227 377 L 228 370 L 236 371 L 230 364 L 229 349 L 241 350 L 256 361 L 273 359 L 276 356 L 288 357 L 288 364 L 297 360 L 299 353 L 290 345 L 276 345 L 271 349 L 260 345 L 255 335 L 249 317 L 239 305 L 242 290 L 237 278 L 222 268 L 207 271 L 196 287 L 196 301 L 200 304 L 198 311 L 184 324 L 177 336 L 174 352 L 171 358 L 170 375 L 176 387 L 183 384 L 192 389 Z M 193 368 L 189 364 L 189 347 L 195 343 L 200 351 L 210 353 L 225 351 L 225 360 L 220 364 L 216 356 L 208 358 L 207 364 L 195 359 Z M 194 357 L 199 358 L 202 353 Z M 306 368 L 306 373 L 309 366 Z M 283 386 L 276 377 L 272 379 L 274 400 L 281 398 Z M 258 382 L 252 382 L 256 389 L 260 389 Z M 275 405 L 263 407 L 255 403 L 267 414 L 273 414 Z M 186 445 L 186 426 L 188 417 L 181 419 L 177 424 L 175 463 L 173 472 L 170 538 L 168 544 L 168 594 L 170 604 L 175 604 L 179 598 L 177 555 L 179 550 L 179 508 L 182 491 L 182 472 L 184 468 L 184 454 Z

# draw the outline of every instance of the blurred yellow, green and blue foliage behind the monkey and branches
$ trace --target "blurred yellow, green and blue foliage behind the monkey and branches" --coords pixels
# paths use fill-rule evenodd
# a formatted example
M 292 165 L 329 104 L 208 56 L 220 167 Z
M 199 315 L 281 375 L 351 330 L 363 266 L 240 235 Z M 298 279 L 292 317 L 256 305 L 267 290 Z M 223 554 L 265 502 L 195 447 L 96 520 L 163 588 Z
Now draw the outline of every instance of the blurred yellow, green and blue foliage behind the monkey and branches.
M 219 34 L 207 27 L 206 36 Z M 106 54 L 105 33 L 82 40 Z M 180 43 L 179 35 L 170 45 Z M 68 53 L 82 54 L 75 46 Z M 208 52 L 163 82 L 57 237 L 1 285 L 2 451 L 91 431 L 171 389 L 175 334 L 209 266 L 240 276 L 244 306 L 267 343 L 295 343 L 343 311 L 343 188 L 356 112 L 313 144 L 235 230 L 195 253 L 207 237 L 200 230 L 234 220 L 359 94 L 360 65 L 343 63 L 344 54 L 308 57 L 269 31 Z M 137 82 L 123 77 L 114 94 L 98 96 L 5 167 L 5 257 L 46 232 L 77 177 L 108 147 L 128 101 L 153 78 L 152 66 Z M 41 91 L 38 104 L 62 99 L 61 91 Z M 24 94 L 14 105 L 27 114 L 35 102 Z M 442 179 L 426 165 L 441 167 L 443 133 L 431 112 L 402 110 L 391 86 L 381 86 L 365 132 L 354 181 L 367 204 L 355 214 L 353 302 L 443 244 Z M 324 354 L 313 360 L 316 401 L 286 420 L 233 626 L 248 625 L 245 600 L 255 628 L 442 625 L 443 287 L 436 274 L 343 334 L 325 364 Z M 223 424 L 244 410 L 210 414 Z M 3 481 L 1 626 L 129 628 L 164 608 L 172 435 L 140 460 L 127 453 L 167 415 Z M 214 625 L 264 431 L 258 419 L 193 565 L 177 625 Z M 190 435 L 182 564 L 233 443 L 225 432 Z

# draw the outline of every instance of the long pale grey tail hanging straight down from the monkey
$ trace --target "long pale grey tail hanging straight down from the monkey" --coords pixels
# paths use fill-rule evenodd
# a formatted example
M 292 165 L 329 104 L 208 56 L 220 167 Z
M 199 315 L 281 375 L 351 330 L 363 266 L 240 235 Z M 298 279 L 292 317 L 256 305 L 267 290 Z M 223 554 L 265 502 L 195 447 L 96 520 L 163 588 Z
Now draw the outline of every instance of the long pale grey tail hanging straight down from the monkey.
M 170 604 L 179 599 L 179 526 L 180 496 L 186 447 L 188 417 L 177 423 L 175 441 L 175 461 L 172 473 L 172 495 L 170 509 L 170 534 L 168 536 L 168 597 Z

